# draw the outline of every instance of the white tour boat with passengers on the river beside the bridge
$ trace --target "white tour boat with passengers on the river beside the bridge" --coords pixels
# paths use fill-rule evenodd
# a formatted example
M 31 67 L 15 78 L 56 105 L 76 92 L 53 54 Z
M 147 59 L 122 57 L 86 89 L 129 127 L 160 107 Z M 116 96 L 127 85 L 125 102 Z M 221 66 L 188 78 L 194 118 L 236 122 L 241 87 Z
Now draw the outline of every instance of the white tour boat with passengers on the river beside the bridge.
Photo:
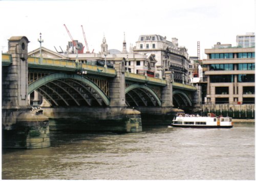
M 196 128 L 231 128 L 233 127 L 232 118 L 217 117 L 213 113 L 208 113 L 208 117 L 187 115 L 178 113 L 170 124 L 173 127 L 196 127 Z

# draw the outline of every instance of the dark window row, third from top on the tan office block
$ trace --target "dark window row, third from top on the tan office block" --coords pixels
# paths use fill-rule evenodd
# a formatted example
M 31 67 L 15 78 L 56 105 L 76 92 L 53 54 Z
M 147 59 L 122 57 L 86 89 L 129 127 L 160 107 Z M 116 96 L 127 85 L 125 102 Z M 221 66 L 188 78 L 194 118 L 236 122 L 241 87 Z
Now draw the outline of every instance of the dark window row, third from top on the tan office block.
M 210 75 L 210 83 L 233 83 L 234 75 Z M 254 74 L 238 74 L 238 82 L 255 82 Z

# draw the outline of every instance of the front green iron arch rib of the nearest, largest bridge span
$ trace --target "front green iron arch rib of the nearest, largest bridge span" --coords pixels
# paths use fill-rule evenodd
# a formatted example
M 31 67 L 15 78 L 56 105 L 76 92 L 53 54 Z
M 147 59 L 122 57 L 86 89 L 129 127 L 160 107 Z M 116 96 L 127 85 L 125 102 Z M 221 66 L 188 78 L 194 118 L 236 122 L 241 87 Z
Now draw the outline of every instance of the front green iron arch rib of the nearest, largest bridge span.
M 104 101 L 106 106 L 110 105 L 110 100 L 109 100 L 108 96 L 106 96 L 104 94 L 104 92 L 96 84 L 94 84 L 92 81 L 82 77 L 81 75 L 77 75 L 77 74 L 53 73 L 53 74 L 41 77 L 40 79 L 38 79 L 37 81 L 35 81 L 29 85 L 28 94 L 31 94 L 33 91 L 35 91 L 42 85 L 49 83 L 51 81 L 54 81 L 54 80 L 58 80 L 58 79 L 74 79 L 74 80 L 83 82 L 83 83 L 89 85 L 90 87 L 92 87 L 99 94 L 99 96 L 102 98 L 102 100 Z

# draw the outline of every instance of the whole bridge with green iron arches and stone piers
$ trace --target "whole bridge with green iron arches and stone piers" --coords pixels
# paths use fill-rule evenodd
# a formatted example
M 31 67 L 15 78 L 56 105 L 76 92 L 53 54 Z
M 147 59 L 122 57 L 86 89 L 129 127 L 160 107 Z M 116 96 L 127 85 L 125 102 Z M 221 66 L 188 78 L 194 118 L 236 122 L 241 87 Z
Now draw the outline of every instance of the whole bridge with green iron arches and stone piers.
M 23 139 L 22 143 L 27 145 L 23 147 L 50 145 L 48 118 L 63 129 L 90 130 L 93 124 L 100 125 L 99 130 L 140 132 L 140 115 L 172 115 L 174 107 L 193 106 L 192 97 L 197 88 L 173 82 L 172 72 L 166 72 L 165 80 L 161 80 L 126 72 L 124 58 L 114 59 L 114 69 L 111 69 L 68 60 L 28 57 L 28 43 L 26 37 L 11 37 L 9 54 L 2 54 L 4 133 L 17 127 L 25 127 L 25 130 L 35 129 L 35 125 L 43 127 L 36 134 L 44 134 L 33 138 L 39 141 Z M 32 94 L 33 99 L 39 94 L 47 102 L 47 106 L 42 106 L 43 115 L 30 111 L 28 100 Z M 14 137 L 16 134 L 17 131 Z M 27 132 L 23 130 L 24 134 Z M 39 145 L 31 146 L 33 141 Z M 7 143 L 7 147 L 15 147 L 17 141 L 14 142 Z M 17 147 L 22 147 L 20 144 Z

